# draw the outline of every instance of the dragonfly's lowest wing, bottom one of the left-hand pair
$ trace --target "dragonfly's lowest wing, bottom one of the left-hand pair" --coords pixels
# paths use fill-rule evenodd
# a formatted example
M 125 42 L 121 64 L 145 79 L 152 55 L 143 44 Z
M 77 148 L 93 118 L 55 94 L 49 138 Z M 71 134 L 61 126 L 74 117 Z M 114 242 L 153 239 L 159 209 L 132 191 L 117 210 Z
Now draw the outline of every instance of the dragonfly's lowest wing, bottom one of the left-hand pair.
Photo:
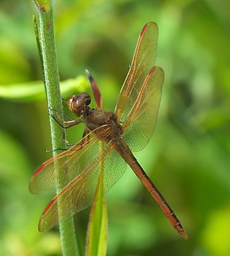
M 82 172 L 66 185 L 51 200 L 40 218 L 40 231 L 47 231 L 60 220 L 70 218 L 73 214 L 91 206 L 93 200 L 101 198 L 116 182 L 126 169 L 126 162 L 114 151 L 112 146 L 101 141 L 96 143 L 100 154 L 95 156 Z M 102 174 L 103 190 L 97 193 L 98 180 Z M 58 215 L 58 207 L 62 215 Z

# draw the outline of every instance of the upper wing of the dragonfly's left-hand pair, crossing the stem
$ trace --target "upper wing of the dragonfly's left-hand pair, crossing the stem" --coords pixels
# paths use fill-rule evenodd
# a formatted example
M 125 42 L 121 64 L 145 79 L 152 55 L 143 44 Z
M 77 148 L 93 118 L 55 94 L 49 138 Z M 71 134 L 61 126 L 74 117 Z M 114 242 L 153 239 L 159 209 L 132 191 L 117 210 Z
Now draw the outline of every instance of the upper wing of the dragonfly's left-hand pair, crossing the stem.
M 104 131 L 106 132 L 106 130 Z M 65 185 L 68 184 L 83 169 L 86 169 L 91 159 L 99 153 L 98 138 L 92 131 L 70 149 L 52 157 L 38 167 L 29 182 L 30 192 L 44 193 L 57 190 L 58 176 L 62 180 L 65 179 Z

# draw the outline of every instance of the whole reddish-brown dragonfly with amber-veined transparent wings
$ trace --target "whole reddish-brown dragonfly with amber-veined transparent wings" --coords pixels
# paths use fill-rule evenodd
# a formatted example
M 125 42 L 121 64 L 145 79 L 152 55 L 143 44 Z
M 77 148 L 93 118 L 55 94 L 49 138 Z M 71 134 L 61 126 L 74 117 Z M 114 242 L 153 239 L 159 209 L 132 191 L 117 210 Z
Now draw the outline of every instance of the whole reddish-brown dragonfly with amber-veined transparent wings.
M 91 206 L 94 200 L 101 198 L 116 184 L 128 164 L 172 226 L 184 239 L 188 238 L 174 211 L 132 153 L 147 145 L 157 123 L 165 76 L 164 71 L 155 66 L 157 37 L 155 22 L 144 25 L 114 112 L 101 108 L 100 102 L 96 108 L 91 108 L 91 97 L 83 92 L 73 95 L 67 102 L 69 110 L 78 117 L 76 120 L 61 124 L 55 118 L 64 128 L 83 123 L 85 129 L 78 143 L 44 162 L 32 175 L 29 183 L 32 193 L 55 190 L 57 172 L 67 173 L 70 180 L 43 211 L 40 231 L 47 231 L 60 220 Z M 88 76 L 93 84 L 93 77 L 89 73 Z M 103 179 L 103 190 L 97 195 L 100 177 Z M 58 216 L 58 201 L 64 209 L 63 216 Z

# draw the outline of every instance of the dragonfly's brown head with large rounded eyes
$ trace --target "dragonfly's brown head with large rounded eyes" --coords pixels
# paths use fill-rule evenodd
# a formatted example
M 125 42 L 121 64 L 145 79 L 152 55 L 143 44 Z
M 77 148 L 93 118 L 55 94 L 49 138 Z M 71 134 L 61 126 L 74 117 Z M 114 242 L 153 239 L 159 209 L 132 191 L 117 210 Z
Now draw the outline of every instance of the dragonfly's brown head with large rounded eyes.
M 91 97 L 88 93 L 82 92 L 78 95 L 73 95 L 68 100 L 68 107 L 75 116 L 80 116 L 83 114 L 85 108 L 91 104 Z

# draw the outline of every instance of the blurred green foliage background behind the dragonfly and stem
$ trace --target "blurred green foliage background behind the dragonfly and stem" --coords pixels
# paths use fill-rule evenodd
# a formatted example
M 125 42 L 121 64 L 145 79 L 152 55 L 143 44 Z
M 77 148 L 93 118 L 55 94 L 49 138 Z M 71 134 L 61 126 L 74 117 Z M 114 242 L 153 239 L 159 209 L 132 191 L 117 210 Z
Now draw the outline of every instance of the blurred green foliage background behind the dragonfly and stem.
M 127 169 L 107 194 L 108 255 L 230 255 L 230 1 L 54 4 L 60 79 L 89 69 L 109 110 L 142 27 L 149 21 L 159 27 L 157 65 L 165 71 L 160 114 L 155 136 L 135 156 L 189 239 L 183 241 Z M 32 172 L 51 156 L 45 153 L 50 128 L 32 14 L 32 1 L 0 1 L 0 255 L 61 254 L 57 229 L 37 230 L 53 194 L 28 190 Z M 31 88 L 33 96 L 19 97 Z M 68 141 L 78 141 L 82 131 L 70 129 Z M 75 218 L 83 250 L 89 211 Z

